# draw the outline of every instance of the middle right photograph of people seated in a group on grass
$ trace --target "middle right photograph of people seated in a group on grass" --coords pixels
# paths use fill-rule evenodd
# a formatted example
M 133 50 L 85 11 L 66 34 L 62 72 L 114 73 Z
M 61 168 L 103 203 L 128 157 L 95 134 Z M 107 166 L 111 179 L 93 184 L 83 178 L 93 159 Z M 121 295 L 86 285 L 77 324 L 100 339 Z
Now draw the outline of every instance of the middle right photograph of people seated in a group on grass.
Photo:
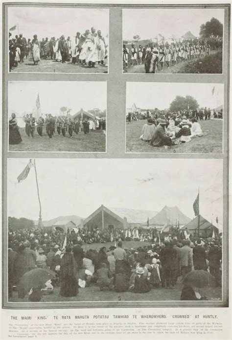
M 126 153 L 223 153 L 224 84 L 127 82 Z

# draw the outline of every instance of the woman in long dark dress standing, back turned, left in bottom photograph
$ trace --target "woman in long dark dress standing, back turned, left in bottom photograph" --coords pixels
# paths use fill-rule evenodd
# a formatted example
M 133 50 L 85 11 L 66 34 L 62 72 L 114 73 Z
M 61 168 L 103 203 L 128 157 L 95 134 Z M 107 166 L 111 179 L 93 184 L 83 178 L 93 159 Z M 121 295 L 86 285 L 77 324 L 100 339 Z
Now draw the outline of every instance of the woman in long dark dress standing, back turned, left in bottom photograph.
M 76 261 L 71 254 L 71 248 L 67 246 L 60 264 L 61 296 L 76 296 L 78 294 L 77 273 Z

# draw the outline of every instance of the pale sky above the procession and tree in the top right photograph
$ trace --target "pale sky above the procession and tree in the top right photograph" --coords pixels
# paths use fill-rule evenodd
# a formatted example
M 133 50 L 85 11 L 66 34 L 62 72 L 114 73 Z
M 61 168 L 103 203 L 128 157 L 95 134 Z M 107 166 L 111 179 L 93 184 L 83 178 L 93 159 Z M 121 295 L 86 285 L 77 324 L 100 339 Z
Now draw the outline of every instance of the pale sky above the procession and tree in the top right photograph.
M 200 26 L 212 17 L 224 25 L 224 9 L 123 9 L 122 37 L 129 40 L 139 34 L 141 39 L 151 39 L 160 33 L 181 38 L 187 31 L 199 36 Z

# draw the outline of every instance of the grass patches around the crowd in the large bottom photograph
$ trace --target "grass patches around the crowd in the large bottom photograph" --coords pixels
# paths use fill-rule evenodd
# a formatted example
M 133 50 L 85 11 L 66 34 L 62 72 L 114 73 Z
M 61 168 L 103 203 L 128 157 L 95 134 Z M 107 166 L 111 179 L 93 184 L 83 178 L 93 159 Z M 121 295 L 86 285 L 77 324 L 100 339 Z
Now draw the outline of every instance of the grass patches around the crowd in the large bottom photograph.
M 110 245 L 114 242 L 108 243 L 94 243 L 84 244 L 82 248 L 84 251 L 92 248 L 99 250 L 101 247 L 106 246 L 109 249 Z M 139 246 L 149 245 L 150 242 L 139 241 L 124 241 L 123 248 L 138 248 Z M 179 280 L 178 280 L 179 281 Z M 73 297 L 60 296 L 60 287 L 55 287 L 53 294 L 44 295 L 46 302 L 68 302 L 68 301 L 178 301 L 180 300 L 183 284 L 178 282 L 174 289 L 156 288 L 144 294 L 136 294 L 133 292 L 118 293 L 116 291 L 104 290 L 100 291 L 96 285 L 91 285 L 87 288 L 79 288 L 79 294 Z M 201 295 L 206 295 L 209 300 L 221 300 L 222 289 L 217 288 L 201 288 Z M 18 298 L 17 291 L 13 291 L 13 297 L 9 299 L 10 302 L 28 302 L 28 295 L 24 299 Z M 118 304 L 117 304 L 118 306 Z M 154 305 L 155 307 L 155 305 Z

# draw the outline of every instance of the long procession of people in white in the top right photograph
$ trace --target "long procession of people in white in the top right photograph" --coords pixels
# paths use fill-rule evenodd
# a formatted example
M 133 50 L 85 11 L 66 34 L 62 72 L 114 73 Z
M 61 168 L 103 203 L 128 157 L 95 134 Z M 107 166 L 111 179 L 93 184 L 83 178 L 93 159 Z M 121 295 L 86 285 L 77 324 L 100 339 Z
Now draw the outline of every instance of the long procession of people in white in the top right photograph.
M 136 44 L 131 44 L 130 49 L 123 44 L 122 60 L 125 68 L 130 61 L 129 66 L 144 64 L 145 73 L 156 73 L 158 68 L 163 71 L 164 65 L 167 68 L 175 67 L 185 61 L 203 58 L 209 55 L 210 50 L 222 50 L 222 40 L 217 38 L 215 42 L 193 39 L 183 40 L 181 43 L 149 43 L 139 45 L 138 48 Z

